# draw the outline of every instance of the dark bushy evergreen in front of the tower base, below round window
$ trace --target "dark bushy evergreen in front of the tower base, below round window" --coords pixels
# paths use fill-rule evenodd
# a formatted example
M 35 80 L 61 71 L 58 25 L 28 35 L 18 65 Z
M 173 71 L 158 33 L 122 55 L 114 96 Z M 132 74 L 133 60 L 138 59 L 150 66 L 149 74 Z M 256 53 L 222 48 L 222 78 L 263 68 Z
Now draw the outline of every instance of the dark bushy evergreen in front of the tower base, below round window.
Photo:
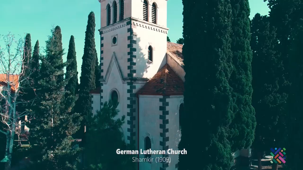
M 85 145 L 85 160 L 91 170 L 132 170 L 136 163 L 132 155 L 118 155 L 117 149 L 129 150 L 125 143 L 121 126 L 125 123 L 125 115 L 118 116 L 118 103 L 105 102 L 101 111 L 88 118 L 87 143 Z

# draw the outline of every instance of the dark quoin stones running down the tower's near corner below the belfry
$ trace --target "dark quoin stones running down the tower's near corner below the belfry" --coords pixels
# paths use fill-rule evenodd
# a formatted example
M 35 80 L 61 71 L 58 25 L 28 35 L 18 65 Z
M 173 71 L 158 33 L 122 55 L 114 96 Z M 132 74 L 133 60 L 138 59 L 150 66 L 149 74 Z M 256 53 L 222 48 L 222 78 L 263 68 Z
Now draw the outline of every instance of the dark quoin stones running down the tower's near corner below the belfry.
M 136 44 L 137 41 L 135 40 L 136 33 L 133 31 L 131 21 L 127 21 L 126 25 L 129 27 L 127 28 L 127 32 L 129 33 L 129 36 L 127 37 L 127 40 L 129 41 L 129 44 L 127 44 L 127 48 L 129 48 L 129 52 L 127 53 L 128 58 L 127 62 L 129 65 L 127 66 L 127 69 L 129 70 L 129 73 L 127 74 L 127 77 L 129 77 L 129 82 L 127 82 L 127 100 L 129 101 L 127 104 L 127 116 L 129 117 L 127 120 L 127 124 L 129 127 L 127 128 L 127 131 L 129 132 L 129 135 L 127 136 L 127 140 L 129 141 L 130 144 L 135 145 L 135 136 L 136 136 L 136 131 L 135 131 L 135 120 L 136 120 L 136 93 L 134 90 L 136 89 L 136 85 L 134 85 L 135 78 L 134 78 L 134 73 L 136 73 L 136 70 L 134 69 L 134 66 L 136 65 L 136 62 L 133 60 L 136 58 Z

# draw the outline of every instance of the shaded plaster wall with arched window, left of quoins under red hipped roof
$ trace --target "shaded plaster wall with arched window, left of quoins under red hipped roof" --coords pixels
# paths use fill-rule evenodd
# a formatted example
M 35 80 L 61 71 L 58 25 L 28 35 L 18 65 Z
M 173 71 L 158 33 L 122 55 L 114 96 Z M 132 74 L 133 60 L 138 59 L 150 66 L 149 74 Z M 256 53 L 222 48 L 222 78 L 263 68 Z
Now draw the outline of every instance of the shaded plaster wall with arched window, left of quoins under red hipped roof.
M 139 95 L 139 150 L 144 148 L 144 139 L 149 134 L 151 139 L 151 150 L 162 150 L 160 146 L 160 119 L 159 106 L 162 103 L 159 102 L 159 98 L 162 96 L 143 96 Z M 151 155 L 151 158 L 159 157 L 162 155 Z M 139 155 L 140 158 L 144 158 L 144 155 Z M 140 162 L 139 169 L 142 170 L 155 170 L 160 169 L 161 163 L 155 161 Z

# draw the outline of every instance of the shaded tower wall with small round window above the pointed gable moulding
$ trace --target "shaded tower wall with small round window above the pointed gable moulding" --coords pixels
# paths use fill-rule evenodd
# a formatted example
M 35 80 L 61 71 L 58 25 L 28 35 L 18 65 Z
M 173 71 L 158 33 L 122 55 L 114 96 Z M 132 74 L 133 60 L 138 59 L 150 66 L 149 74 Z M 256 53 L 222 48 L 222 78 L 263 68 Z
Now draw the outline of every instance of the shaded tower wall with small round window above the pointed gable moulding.
M 129 65 L 129 63 L 127 62 L 127 52 L 129 51 L 129 48 L 127 48 L 127 44 L 129 44 L 129 41 L 127 41 L 127 36 L 129 35 L 129 32 L 127 32 L 127 28 L 129 27 L 130 26 L 127 26 L 125 21 L 122 23 L 115 23 L 109 27 L 106 27 L 105 29 L 101 29 L 101 31 L 103 31 L 103 47 L 101 47 L 101 50 L 103 50 L 103 73 L 101 74 L 102 76 L 105 77 L 114 52 L 116 54 L 118 63 L 122 69 L 123 76 L 126 77 L 127 73 L 129 73 L 129 70 L 127 70 L 127 66 Z M 117 35 L 117 45 L 112 46 L 112 36 L 115 35 Z

